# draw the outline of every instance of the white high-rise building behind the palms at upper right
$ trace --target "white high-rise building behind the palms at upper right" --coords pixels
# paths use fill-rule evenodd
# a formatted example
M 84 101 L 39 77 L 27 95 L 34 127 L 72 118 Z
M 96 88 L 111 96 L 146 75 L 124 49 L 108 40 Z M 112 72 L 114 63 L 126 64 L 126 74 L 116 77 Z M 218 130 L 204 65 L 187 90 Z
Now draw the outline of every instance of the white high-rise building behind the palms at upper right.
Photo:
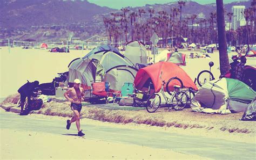
M 245 19 L 244 13 L 242 13 L 242 12 L 244 12 L 244 10 L 245 10 L 244 5 L 233 5 L 232 6 L 232 12 L 233 12 L 232 28 L 233 28 L 233 30 L 237 30 L 239 21 Z

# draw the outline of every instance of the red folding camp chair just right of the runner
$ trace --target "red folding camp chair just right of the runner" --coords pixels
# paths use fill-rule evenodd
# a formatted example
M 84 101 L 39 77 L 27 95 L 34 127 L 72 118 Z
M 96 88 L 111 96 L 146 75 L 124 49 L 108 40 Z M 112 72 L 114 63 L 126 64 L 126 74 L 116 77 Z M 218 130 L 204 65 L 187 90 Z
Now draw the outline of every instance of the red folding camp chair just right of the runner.
M 89 102 L 91 104 L 97 103 L 97 101 L 101 99 L 107 99 L 106 89 L 109 90 L 109 83 L 105 82 L 93 82 L 91 89 L 91 97 L 89 98 Z

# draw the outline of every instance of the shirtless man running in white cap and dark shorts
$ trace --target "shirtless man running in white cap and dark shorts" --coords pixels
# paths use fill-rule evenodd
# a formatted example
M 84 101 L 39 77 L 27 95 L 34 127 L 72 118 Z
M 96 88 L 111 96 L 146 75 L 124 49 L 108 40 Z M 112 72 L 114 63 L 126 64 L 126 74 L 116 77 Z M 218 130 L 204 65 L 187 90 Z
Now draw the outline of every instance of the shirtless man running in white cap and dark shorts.
M 84 96 L 84 89 L 80 87 L 80 80 L 75 79 L 73 88 L 70 88 L 64 93 L 64 97 L 71 102 L 71 110 L 73 111 L 73 117 L 71 120 L 66 121 L 66 129 L 69 129 L 71 123 L 76 122 L 78 136 L 84 136 L 85 134 L 80 129 L 80 112 L 82 110 L 82 101 Z

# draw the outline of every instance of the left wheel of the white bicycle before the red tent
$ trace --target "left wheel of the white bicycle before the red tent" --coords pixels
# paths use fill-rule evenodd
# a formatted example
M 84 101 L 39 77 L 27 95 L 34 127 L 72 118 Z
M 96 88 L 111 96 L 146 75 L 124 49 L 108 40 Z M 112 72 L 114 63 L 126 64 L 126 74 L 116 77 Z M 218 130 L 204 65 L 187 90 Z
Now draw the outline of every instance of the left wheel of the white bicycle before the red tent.
M 161 97 L 159 96 L 159 94 L 157 93 L 152 94 L 149 97 L 149 99 L 147 99 L 147 106 L 146 106 L 147 112 L 149 113 L 156 112 L 160 104 L 161 104 Z

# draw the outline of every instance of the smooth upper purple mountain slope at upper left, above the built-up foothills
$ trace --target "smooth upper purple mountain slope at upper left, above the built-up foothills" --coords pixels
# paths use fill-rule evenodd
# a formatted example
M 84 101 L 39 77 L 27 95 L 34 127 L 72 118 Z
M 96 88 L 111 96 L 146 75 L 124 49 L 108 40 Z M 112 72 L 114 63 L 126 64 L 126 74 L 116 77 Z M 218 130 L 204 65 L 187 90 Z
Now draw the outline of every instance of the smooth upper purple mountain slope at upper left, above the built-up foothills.
M 115 11 L 87 1 L 1 0 L 0 27 L 17 28 L 45 24 L 90 21 L 96 14 Z

